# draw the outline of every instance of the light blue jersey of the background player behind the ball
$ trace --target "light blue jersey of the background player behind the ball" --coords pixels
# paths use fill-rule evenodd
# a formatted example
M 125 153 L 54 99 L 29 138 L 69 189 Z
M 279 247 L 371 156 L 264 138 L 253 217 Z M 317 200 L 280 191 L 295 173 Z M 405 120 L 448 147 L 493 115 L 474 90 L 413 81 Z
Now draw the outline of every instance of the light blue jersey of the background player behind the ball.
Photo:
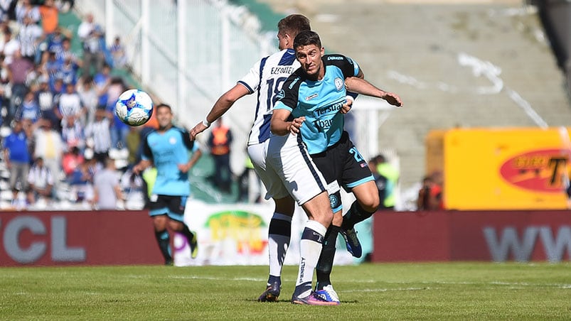
M 164 133 L 151 131 L 144 139 L 144 160 L 151 160 L 156 167 L 156 181 L 152 193 L 155 195 L 188 196 L 191 185 L 188 173 L 178 169 L 190 159 L 188 151 L 198 150 L 198 143 L 191 141 L 183 129 L 172 127 Z

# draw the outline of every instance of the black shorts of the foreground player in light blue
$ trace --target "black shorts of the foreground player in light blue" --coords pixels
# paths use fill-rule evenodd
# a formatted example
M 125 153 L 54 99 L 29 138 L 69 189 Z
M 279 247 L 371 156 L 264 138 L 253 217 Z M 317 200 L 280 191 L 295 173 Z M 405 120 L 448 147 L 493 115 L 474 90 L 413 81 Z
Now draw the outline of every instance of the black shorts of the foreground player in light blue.
M 369 180 L 375 180 L 367 160 L 353 145 L 346 131 L 343 131 L 341 139 L 335 145 L 322 153 L 312 154 L 311 158 L 324 175 L 327 184 L 337 180 L 347 192 Z

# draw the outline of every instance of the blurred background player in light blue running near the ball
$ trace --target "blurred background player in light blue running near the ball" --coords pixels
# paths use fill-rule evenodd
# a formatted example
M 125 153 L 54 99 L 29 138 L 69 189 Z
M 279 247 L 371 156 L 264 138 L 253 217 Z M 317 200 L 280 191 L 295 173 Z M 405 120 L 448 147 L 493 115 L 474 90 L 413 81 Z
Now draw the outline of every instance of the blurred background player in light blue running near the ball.
M 133 167 L 133 172 L 141 173 L 150 165 L 156 168 L 156 180 L 149 197 L 149 215 L 153 219 L 156 241 L 165 264 L 171 265 L 171 238 L 167 227 L 186 236 L 193 259 L 198 254 L 196 233 L 184 223 L 183 216 L 186 200 L 191 194 L 188 171 L 201 158 L 202 152 L 198 143 L 190 140 L 188 131 L 173 126 L 173 112 L 169 105 L 159 104 L 155 112 L 159 129 L 145 136 L 142 160 Z

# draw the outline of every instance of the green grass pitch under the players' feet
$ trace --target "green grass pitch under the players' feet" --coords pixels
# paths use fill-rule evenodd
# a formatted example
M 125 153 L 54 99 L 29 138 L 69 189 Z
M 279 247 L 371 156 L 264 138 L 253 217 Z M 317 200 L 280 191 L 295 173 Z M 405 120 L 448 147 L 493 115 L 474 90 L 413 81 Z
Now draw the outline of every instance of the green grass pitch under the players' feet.
M 258 303 L 266 266 L 0 268 L 0 320 L 570 320 L 571 263 L 336 266 L 341 305 Z

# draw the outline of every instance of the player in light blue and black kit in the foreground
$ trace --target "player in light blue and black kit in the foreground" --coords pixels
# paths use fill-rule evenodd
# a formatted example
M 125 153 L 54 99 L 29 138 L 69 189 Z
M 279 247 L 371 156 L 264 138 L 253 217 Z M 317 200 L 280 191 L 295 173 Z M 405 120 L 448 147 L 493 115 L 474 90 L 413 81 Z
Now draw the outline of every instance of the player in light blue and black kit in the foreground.
M 351 58 L 324 55 L 319 35 L 314 31 L 299 33 L 294 39 L 294 50 L 301 67 L 284 82 L 270 128 L 278 135 L 297 134 L 328 185 L 341 185 L 356 197 L 343 218 L 341 193 L 329 195 L 335 216 L 317 266 L 316 292 L 323 293 L 326 300 L 338 301 L 329 278 L 337 235 L 341 233 L 348 251 L 360 257 L 361 244 L 353 226 L 376 212 L 380 202 L 366 160 L 343 130 L 343 114 L 356 96 L 352 92 L 382 98 L 397 107 L 402 102 L 396 94 L 363 80 L 363 72 Z M 302 290 L 298 283 L 296 293 Z

